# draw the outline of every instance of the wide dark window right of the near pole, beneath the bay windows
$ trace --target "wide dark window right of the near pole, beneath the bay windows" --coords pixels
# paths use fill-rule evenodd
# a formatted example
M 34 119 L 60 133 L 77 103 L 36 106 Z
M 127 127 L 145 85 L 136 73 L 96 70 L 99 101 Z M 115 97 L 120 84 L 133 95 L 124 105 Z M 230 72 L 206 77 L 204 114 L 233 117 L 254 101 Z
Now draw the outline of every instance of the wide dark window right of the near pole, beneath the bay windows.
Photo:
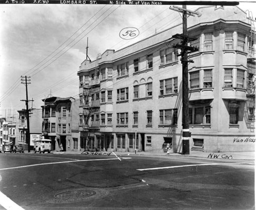
M 210 124 L 211 107 L 189 108 L 189 124 Z

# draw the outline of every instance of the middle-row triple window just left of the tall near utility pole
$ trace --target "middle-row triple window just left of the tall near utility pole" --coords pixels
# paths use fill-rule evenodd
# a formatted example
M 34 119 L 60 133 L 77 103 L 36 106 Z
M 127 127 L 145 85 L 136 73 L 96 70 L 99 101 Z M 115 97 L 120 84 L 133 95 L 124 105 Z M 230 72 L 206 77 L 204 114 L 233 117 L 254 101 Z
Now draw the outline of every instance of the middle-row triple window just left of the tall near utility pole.
M 178 92 L 178 77 L 160 80 L 160 96 Z

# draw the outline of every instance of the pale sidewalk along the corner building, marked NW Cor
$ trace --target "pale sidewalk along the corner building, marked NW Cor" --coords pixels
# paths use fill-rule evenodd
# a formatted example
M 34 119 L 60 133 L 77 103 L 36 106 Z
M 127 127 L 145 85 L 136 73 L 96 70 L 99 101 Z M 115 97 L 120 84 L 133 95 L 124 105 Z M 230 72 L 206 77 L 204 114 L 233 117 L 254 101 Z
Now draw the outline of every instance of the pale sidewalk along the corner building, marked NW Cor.
M 82 152 L 73 152 L 73 151 L 65 151 L 65 152 L 56 152 L 53 151 L 55 154 L 82 154 Z M 93 152 L 89 152 L 93 153 Z M 95 153 L 95 152 L 94 152 Z M 104 152 L 98 152 L 103 154 Z M 110 153 L 110 152 L 105 152 Z M 117 156 L 123 155 L 149 155 L 149 156 L 186 156 L 186 157 L 196 157 L 196 158 L 203 158 L 203 159 L 229 159 L 229 160 L 255 160 L 255 152 L 201 152 L 201 151 L 190 151 L 189 154 L 182 155 L 180 153 L 170 153 L 167 154 L 166 152 L 114 152 Z M 111 153 L 110 155 L 115 155 Z

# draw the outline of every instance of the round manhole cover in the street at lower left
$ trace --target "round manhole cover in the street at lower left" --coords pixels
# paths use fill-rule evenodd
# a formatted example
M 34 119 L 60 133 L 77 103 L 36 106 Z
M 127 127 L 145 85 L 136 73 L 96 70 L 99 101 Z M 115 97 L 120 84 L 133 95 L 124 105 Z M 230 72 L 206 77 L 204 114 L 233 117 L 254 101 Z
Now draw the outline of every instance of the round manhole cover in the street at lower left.
M 95 195 L 95 191 L 90 190 L 77 190 L 77 191 L 67 191 L 63 193 L 59 193 L 55 195 L 56 198 L 68 200 L 68 201 L 75 201 L 77 199 L 82 199 L 85 197 L 93 196 Z

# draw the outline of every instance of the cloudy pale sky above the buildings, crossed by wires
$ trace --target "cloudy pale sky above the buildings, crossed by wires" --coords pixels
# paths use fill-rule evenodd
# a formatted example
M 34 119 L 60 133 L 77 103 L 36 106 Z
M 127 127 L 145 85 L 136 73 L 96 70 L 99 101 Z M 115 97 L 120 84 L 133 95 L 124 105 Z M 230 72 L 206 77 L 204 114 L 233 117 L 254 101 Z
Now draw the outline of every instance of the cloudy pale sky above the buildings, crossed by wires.
M 239 7 L 255 19 L 256 0 Z M 88 56 L 95 60 L 106 49 L 124 48 L 181 22 L 169 5 L 0 4 L 0 118 L 26 109 L 22 76 L 30 80 L 29 108 L 40 108 L 49 96 L 78 98 L 87 38 Z M 139 36 L 120 38 L 126 27 L 137 28 Z

